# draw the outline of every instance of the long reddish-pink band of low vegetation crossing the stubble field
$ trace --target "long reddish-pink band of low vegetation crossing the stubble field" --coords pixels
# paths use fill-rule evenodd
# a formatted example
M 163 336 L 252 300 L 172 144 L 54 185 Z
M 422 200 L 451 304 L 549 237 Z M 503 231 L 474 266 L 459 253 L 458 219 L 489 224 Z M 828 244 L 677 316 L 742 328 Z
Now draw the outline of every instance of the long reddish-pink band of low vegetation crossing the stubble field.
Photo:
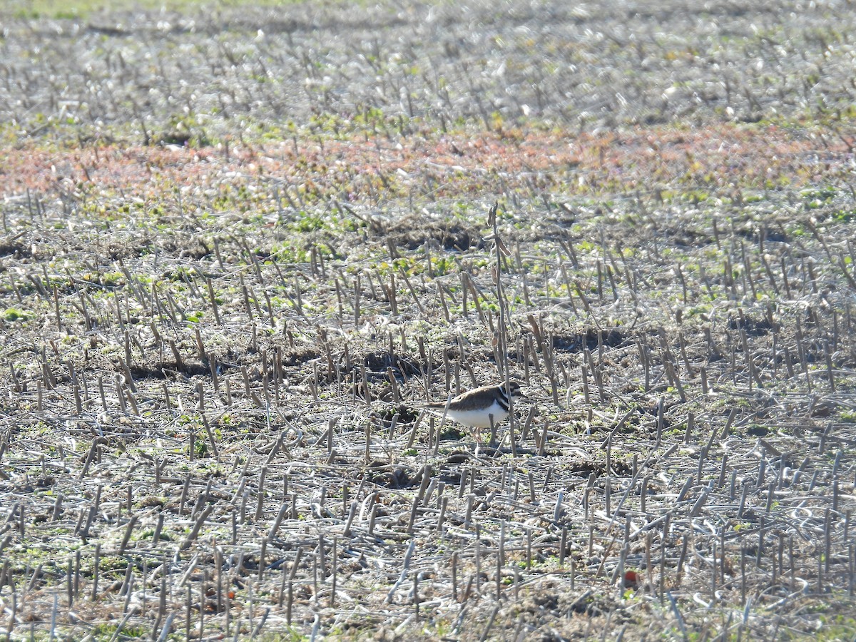
M 46 150 L 27 142 L 2 153 L 6 161 L 0 169 L 0 193 L 5 196 L 87 185 L 145 195 L 152 181 L 199 185 L 228 180 L 235 172 L 282 178 L 306 193 L 336 186 L 352 199 L 378 189 L 395 195 L 425 181 L 437 181 L 440 195 L 447 190 L 467 193 L 497 175 L 510 184 L 561 180 L 571 193 L 667 187 L 675 181 L 798 187 L 849 156 L 843 142 L 821 146 L 810 134 L 732 125 L 621 134 L 513 130 L 399 141 L 304 139 L 296 146 L 288 141 L 201 149 L 109 145 Z

